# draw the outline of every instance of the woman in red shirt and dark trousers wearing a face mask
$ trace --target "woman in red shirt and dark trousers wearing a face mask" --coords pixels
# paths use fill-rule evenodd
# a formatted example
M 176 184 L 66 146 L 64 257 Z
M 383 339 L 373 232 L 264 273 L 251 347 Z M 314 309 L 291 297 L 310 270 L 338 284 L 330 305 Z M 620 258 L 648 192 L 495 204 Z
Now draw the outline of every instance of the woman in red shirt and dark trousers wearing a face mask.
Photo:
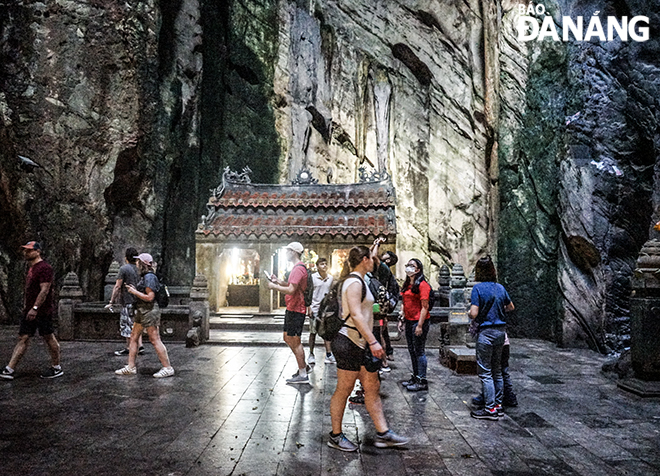
M 399 319 L 399 332 L 406 331 L 408 352 L 412 360 L 413 374 L 403 386 L 410 392 L 428 390 L 426 381 L 426 337 L 429 334 L 429 296 L 431 285 L 424 276 L 424 266 L 418 259 L 406 264 L 406 281 L 401 289 L 403 318 Z M 404 324 L 405 323 L 405 324 Z

